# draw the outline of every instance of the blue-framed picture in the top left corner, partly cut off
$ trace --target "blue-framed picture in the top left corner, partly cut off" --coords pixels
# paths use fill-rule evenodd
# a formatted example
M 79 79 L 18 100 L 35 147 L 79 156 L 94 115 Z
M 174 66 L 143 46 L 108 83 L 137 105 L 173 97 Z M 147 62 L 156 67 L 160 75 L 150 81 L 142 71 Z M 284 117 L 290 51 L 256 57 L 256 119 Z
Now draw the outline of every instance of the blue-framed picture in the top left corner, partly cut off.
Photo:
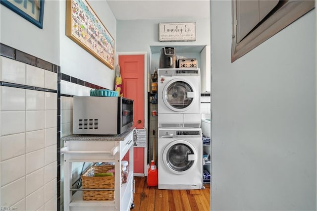
M 39 28 L 43 28 L 44 0 L 1 0 L 1 4 Z

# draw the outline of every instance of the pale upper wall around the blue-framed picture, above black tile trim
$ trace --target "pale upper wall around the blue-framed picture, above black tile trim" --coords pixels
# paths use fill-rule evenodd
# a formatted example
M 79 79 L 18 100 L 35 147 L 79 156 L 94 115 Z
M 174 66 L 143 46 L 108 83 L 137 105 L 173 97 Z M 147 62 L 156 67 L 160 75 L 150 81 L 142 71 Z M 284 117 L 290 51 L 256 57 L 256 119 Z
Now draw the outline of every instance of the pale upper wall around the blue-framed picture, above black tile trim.
M 0 5 L 0 42 L 59 65 L 59 3 L 46 0 L 43 29 Z

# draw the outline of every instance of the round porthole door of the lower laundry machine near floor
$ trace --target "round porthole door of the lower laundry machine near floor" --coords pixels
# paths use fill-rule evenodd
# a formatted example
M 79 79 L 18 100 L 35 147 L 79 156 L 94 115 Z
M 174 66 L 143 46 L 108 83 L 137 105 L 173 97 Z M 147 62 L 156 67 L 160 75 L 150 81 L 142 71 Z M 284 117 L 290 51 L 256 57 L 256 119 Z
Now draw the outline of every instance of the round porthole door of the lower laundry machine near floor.
M 185 174 L 196 162 L 197 151 L 188 141 L 172 141 L 163 150 L 163 163 L 167 170 L 175 174 Z

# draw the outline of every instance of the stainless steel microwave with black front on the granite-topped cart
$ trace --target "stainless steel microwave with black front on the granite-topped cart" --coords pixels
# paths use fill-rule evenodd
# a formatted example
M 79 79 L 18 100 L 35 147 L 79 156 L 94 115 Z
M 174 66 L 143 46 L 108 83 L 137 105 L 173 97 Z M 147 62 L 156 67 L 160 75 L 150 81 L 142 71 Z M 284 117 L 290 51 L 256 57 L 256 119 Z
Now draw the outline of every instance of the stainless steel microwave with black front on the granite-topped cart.
M 122 97 L 74 97 L 74 134 L 121 134 L 133 125 L 133 100 Z

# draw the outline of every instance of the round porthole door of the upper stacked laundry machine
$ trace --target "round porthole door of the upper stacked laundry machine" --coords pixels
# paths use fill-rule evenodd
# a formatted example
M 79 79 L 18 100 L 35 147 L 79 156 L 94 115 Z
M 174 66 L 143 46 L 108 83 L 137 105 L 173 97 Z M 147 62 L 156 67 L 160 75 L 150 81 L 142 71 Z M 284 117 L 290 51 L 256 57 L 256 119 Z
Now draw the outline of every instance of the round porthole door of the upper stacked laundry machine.
M 197 96 L 194 86 L 189 81 L 176 78 L 164 86 L 162 97 L 165 106 L 181 112 L 193 106 Z

